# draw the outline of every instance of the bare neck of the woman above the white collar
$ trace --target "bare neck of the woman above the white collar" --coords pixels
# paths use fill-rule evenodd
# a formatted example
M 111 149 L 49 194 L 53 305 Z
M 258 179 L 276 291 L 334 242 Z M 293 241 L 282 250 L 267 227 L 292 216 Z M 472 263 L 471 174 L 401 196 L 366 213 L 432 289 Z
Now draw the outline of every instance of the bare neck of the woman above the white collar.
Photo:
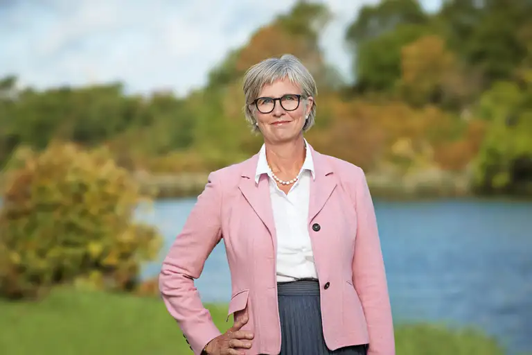
M 299 135 L 292 141 L 271 144 L 265 142 L 266 159 L 274 173 L 297 175 L 305 162 L 305 141 Z

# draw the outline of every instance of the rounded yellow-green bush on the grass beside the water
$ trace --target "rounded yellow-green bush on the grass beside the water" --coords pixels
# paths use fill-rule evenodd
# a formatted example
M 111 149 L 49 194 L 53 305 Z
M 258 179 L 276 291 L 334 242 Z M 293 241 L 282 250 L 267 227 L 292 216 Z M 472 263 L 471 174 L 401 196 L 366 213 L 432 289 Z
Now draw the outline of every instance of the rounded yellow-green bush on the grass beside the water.
M 64 282 L 134 288 L 157 257 L 156 230 L 134 223 L 139 186 L 106 150 L 51 144 L 26 152 L 0 209 L 0 296 L 36 297 Z

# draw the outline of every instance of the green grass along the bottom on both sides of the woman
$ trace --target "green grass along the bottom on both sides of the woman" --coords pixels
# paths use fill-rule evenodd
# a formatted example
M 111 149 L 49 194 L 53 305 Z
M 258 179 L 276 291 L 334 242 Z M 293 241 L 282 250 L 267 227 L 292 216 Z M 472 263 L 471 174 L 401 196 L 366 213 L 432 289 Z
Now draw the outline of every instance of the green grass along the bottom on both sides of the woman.
M 210 304 L 222 331 L 227 306 Z M 493 340 L 425 324 L 396 326 L 398 355 L 499 355 Z M 57 289 L 41 302 L 0 301 L 2 355 L 192 354 L 156 297 Z

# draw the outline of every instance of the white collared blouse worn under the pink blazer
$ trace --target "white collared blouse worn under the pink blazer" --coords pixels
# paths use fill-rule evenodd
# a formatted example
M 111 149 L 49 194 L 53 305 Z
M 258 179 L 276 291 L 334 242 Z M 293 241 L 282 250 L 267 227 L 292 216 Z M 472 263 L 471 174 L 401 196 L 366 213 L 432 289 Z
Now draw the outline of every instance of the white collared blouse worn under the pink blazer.
M 305 146 L 308 146 L 305 141 Z M 317 279 L 314 254 L 308 233 L 308 204 L 310 200 L 310 179 L 314 179 L 314 162 L 308 151 L 305 162 L 288 193 L 277 186 L 266 160 L 263 145 L 258 155 L 255 182 L 260 175 L 269 177 L 269 196 L 272 200 L 275 230 L 277 235 L 277 282 L 289 282 L 310 277 Z

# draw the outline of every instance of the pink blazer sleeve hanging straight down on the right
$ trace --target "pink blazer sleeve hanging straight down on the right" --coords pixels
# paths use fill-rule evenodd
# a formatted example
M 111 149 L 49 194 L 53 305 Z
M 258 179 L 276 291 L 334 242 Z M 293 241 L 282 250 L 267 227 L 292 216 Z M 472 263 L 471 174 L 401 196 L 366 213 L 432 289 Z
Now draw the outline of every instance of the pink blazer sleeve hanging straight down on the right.
M 393 355 L 395 339 L 377 219 L 366 176 L 361 168 L 357 169 L 357 235 L 353 258 L 353 284 L 360 297 L 368 325 L 368 354 Z

